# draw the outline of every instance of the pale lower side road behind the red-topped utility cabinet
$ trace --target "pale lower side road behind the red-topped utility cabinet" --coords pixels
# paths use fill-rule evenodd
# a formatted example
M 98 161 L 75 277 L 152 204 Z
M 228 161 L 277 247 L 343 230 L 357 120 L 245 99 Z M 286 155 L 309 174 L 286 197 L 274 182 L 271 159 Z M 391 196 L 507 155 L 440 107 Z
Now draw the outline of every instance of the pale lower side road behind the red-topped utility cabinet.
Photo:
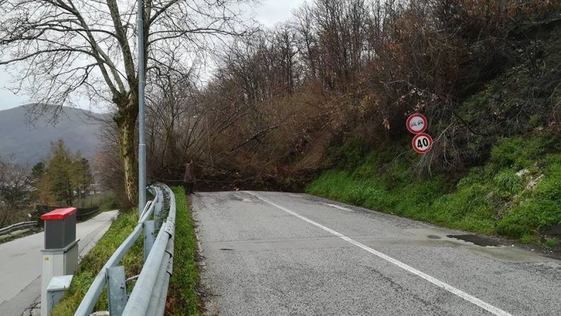
M 84 255 L 109 229 L 117 211 L 104 212 L 76 225 L 78 249 Z M 19 316 L 41 294 L 41 250 L 44 233 L 0 245 L 0 315 Z

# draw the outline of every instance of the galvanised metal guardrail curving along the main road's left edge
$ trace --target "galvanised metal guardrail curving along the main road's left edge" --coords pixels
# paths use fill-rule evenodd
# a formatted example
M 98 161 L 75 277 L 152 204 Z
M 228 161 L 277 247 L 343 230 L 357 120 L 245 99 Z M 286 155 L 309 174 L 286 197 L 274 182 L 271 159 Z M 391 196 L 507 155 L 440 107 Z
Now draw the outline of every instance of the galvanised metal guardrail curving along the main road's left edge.
M 175 197 L 171 189 L 162 184 L 152 185 L 148 190 L 155 195 L 154 200 L 146 203 L 133 232 L 97 274 L 75 316 L 89 316 L 106 285 L 111 316 L 164 315 L 174 256 Z M 165 209 L 167 207 L 169 210 Z M 162 210 L 168 211 L 165 220 Z M 153 219 L 149 220 L 150 217 Z M 125 279 L 124 267 L 119 263 L 140 234 L 144 241 L 144 266 L 129 298 L 126 282 L 136 277 Z

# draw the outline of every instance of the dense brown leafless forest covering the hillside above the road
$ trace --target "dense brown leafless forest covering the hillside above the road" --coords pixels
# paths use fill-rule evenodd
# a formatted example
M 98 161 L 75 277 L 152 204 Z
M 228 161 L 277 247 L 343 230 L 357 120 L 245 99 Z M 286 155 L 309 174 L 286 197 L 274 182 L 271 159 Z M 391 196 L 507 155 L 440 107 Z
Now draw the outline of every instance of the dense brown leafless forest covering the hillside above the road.
M 333 148 L 349 140 L 363 150 L 404 143 L 404 121 L 414 111 L 429 117 L 435 136 L 418 174 L 461 173 L 483 161 L 498 137 L 523 133 L 528 126 L 519 122 L 532 114 L 559 128 L 558 82 L 550 80 L 516 106 L 464 113 L 460 105 L 509 67 L 541 69 L 538 34 L 555 25 L 560 8 L 537 0 L 303 4 L 275 28 L 229 42 L 205 85 L 196 64 L 154 80 L 149 176 L 179 180 L 181 164 L 193 159 L 201 187 L 294 190 L 344 163 Z M 536 71 L 535 78 L 557 72 Z M 102 165 L 119 170 L 118 159 L 107 163 L 111 152 L 108 145 Z

